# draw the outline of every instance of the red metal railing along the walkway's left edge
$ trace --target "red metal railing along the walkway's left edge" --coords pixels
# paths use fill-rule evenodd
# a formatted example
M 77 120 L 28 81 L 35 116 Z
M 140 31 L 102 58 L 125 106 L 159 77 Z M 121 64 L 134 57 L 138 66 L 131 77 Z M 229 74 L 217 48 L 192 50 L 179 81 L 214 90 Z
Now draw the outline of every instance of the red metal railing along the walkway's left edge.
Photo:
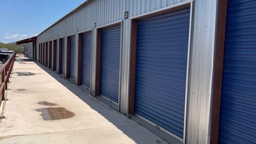
M 16 54 L 14 53 L 7 60 L 7 62 L 5 62 L 4 66 L 0 67 L 0 76 L 2 76 L 2 83 L 1 83 L 1 86 L 0 86 L 0 93 L 1 93 L 1 96 L 2 96 L 1 101 L 3 101 L 5 99 L 4 92 L 5 92 L 5 90 L 7 90 L 7 84 L 9 83 L 11 70 L 13 70 L 15 57 L 16 57 Z

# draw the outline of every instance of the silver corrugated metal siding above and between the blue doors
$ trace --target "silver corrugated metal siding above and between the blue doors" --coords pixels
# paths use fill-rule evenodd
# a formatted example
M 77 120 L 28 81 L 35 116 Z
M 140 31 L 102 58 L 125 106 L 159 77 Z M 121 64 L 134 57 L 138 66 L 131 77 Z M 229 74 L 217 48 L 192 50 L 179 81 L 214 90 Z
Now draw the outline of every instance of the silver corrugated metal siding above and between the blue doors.
M 121 21 L 119 111 L 127 115 L 127 102 L 129 101 L 131 19 L 128 18 L 124 20 L 124 12 L 129 11 L 129 17 L 133 17 L 191 1 L 192 0 L 92 0 L 89 1 L 84 8 L 81 8 L 40 34 L 37 43 L 58 39 L 58 37 L 63 36 L 65 36 L 66 43 L 66 35 L 71 34 L 76 35 L 76 43 L 78 43 L 78 32 L 92 29 L 92 86 L 90 90 L 92 95 L 95 95 L 97 35 L 94 23 L 96 23 L 96 27 L 100 27 Z M 186 137 L 186 143 L 209 142 L 217 3 L 218 0 L 194 0 L 193 2 L 191 58 L 190 62 L 188 62 L 190 64 L 190 74 L 188 74 L 188 97 L 186 100 L 188 102 L 187 115 L 185 108 L 185 129 L 187 130 L 185 130 L 184 136 Z M 59 41 L 57 45 L 59 45 Z M 38 44 L 37 48 L 39 48 Z M 75 52 L 76 54 L 78 52 L 77 45 Z M 77 61 L 78 59 L 75 59 L 75 70 L 78 67 Z M 77 80 L 76 75 L 75 83 Z

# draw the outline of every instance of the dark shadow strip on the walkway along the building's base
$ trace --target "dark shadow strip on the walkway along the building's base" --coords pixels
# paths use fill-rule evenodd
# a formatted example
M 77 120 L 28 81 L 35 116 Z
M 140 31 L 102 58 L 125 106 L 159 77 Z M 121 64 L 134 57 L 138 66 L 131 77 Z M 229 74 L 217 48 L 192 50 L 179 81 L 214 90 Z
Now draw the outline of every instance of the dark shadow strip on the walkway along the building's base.
M 77 97 L 82 99 L 82 101 L 88 104 L 89 107 L 99 112 L 100 115 L 105 117 L 109 122 L 113 123 L 115 127 L 121 130 L 125 135 L 129 136 L 130 139 L 132 139 L 136 143 L 139 143 L 139 144 L 167 143 L 166 141 L 162 140 L 160 137 L 151 133 L 149 130 L 140 126 L 138 123 L 132 121 L 131 119 L 129 120 L 126 116 L 122 115 L 121 113 L 119 113 L 118 115 L 119 117 L 117 116 L 113 117 L 111 114 L 109 114 L 109 110 L 111 112 L 118 112 L 118 111 L 111 108 L 111 106 L 101 102 L 97 97 L 93 97 L 92 95 L 90 95 L 89 90 L 86 87 L 76 86 L 75 84 L 71 83 L 68 79 L 64 79 L 63 76 L 61 76 L 60 74 L 57 74 L 56 71 L 52 71 L 51 69 L 40 64 L 37 61 L 34 61 L 34 62 L 36 65 L 41 67 L 42 70 L 44 70 L 45 72 L 50 74 L 50 76 L 52 76 L 54 79 L 56 79 L 60 84 L 65 86 Z M 102 107 L 99 107 L 99 105 L 95 107 L 95 103 L 101 103 Z M 108 109 L 108 111 L 106 111 L 106 109 Z M 130 124 L 127 124 L 127 126 L 120 126 L 120 123 L 118 123 L 118 118 L 127 118 Z

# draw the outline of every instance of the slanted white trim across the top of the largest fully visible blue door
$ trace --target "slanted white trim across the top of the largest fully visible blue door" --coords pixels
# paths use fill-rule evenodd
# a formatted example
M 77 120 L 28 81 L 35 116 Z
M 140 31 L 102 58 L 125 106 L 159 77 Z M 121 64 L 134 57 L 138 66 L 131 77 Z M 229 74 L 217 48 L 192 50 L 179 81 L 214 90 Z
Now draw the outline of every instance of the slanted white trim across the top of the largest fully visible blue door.
M 147 16 L 147 15 L 150 15 L 150 14 L 154 14 L 154 13 L 156 13 L 156 12 L 160 12 L 160 11 L 163 11 L 163 10 L 167 10 L 167 9 L 172 9 L 172 8 L 180 7 L 181 5 L 190 4 L 191 2 L 193 2 L 193 0 L 188 0 L 188 1 L 185 1 L 185 2 L 176 3 L 176 4 L 173 4 L 173 5 L 170 5 L 169 7 L 164 7 L 164 8 L 162 8 L 162 9 L 157 9 L 157 10 L 153 10 L 153 11 L 146 12 L 146 13 L 141 14 L 141 15 L 137 15 L 137 16 L 130 17 L 130 19 L 135 19 L 135 18 Z

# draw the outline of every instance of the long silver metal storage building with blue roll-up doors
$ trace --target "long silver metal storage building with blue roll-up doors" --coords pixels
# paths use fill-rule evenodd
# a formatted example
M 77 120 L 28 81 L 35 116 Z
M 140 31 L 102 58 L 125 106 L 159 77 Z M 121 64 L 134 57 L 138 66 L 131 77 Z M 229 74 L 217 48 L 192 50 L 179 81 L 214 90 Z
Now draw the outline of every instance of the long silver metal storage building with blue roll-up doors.
M 255 143 L 255 26 L 256 1 L 89 0 L 32 52 L 170 143 Z

